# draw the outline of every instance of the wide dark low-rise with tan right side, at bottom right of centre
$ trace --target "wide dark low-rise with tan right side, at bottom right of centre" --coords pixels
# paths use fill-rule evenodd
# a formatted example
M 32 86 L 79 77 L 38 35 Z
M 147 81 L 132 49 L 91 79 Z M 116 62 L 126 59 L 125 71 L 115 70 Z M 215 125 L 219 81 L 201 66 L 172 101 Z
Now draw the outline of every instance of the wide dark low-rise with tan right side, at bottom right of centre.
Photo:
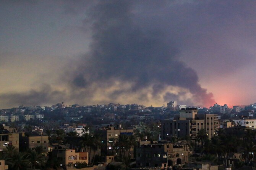
M 162 167 L 182 165 L 188 161 L 186 146 L 172 143 L 144 144 L 136 148 L 136 167 Z

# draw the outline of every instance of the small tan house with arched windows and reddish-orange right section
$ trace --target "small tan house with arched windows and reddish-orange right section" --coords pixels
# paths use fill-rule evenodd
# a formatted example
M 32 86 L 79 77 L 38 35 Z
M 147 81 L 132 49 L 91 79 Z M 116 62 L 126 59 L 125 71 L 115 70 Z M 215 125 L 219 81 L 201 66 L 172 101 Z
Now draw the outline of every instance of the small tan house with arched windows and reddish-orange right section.
M 52 156 L 57 157 L 62 168 L 73 167 L 77 162 L 86 162 L 88 164 L 87 152 L 76 152 L 75 149 L 68 149 L 65 146 L 53 149 Z

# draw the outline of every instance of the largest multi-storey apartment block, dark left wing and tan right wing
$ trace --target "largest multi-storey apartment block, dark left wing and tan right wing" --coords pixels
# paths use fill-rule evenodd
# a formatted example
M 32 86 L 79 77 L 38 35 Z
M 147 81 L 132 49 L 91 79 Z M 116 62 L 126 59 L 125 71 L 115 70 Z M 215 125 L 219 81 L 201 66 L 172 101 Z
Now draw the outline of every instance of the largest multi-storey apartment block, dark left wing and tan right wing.
M 219 128 L 217 114 L 198 114 L 196 108 L 180 110 L 178 119 L 162 120 L 162 139 L 167 140 L 172 136 L 185 137 L 190 135 L 196 137 L 200 129 L 205 129 L 211 139 Z

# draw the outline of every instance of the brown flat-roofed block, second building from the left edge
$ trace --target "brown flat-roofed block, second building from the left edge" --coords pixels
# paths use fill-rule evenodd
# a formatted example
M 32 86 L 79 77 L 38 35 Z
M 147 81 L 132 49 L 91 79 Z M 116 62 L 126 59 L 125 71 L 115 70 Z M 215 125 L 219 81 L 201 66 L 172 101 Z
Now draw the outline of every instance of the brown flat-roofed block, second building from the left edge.
M 48 152 L 49 139 L 48 136 L 42 136 L 38 133 L 19 133 L 20 151 L 26 151 L 27 149 L 34 150 L 38 146 L 42 146 L 43 153 Z

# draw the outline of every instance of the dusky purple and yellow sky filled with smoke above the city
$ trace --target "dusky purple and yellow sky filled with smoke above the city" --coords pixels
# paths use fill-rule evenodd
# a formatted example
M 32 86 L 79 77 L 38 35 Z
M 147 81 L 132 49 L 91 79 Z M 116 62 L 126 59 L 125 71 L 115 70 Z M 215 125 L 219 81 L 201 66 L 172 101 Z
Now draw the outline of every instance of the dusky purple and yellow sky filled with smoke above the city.
M 256 2 L 0 2 L 0 108 L 256 102 Z

